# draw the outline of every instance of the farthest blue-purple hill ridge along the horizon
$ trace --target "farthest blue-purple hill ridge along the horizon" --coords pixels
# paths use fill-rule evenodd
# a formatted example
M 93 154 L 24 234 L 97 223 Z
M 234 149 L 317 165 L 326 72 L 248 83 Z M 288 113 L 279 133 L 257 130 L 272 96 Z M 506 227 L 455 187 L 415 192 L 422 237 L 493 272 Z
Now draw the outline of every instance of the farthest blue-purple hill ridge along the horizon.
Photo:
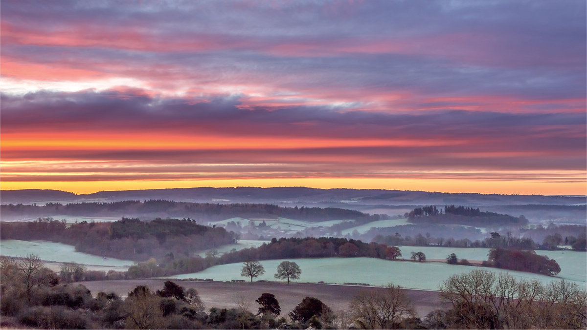
M 76 195 L 60 190 L 0 190 L 2 204 L 46 202 L 118 202 L 122 200 L 165 199 L 196 203 L 318 203 L 344 205 L 582 205 L 585 196 L 499 195 L 481 193 L 441 193 L 384 189 L 275 188 L 174 188 L 102 191 Z M 345 207 L 346 208 L 346 207 Z

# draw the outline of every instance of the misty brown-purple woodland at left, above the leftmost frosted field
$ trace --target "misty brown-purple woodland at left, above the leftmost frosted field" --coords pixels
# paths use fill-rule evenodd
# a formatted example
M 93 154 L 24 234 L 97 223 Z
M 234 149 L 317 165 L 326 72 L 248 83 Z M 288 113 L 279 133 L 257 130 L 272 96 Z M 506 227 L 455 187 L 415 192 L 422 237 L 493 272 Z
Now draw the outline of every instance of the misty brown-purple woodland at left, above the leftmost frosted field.
M 124 218 L 110 223 L 68 224 L 52 218 L 33 222 L 0 223 L 2 239 L 49 240 L 73 245 L 76 251 L 126 260 L 151 257 L 189 257 L 194 251 L 234 243 L 238 234 L 221 227 L 206 227 L 193 220 L 155 219 L 143 222 Z

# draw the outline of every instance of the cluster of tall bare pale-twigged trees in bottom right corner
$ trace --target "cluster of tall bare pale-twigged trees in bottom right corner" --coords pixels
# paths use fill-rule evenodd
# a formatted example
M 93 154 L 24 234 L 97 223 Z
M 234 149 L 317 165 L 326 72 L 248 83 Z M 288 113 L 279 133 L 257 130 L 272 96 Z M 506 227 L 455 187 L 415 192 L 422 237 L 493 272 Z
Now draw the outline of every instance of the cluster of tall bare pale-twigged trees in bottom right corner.
M 585 288 L 566 281 L 544 285 L 487 270 L 452 275 L 440 286 L 448 309 L 424 318 L 431 329 L 583 329 Z

